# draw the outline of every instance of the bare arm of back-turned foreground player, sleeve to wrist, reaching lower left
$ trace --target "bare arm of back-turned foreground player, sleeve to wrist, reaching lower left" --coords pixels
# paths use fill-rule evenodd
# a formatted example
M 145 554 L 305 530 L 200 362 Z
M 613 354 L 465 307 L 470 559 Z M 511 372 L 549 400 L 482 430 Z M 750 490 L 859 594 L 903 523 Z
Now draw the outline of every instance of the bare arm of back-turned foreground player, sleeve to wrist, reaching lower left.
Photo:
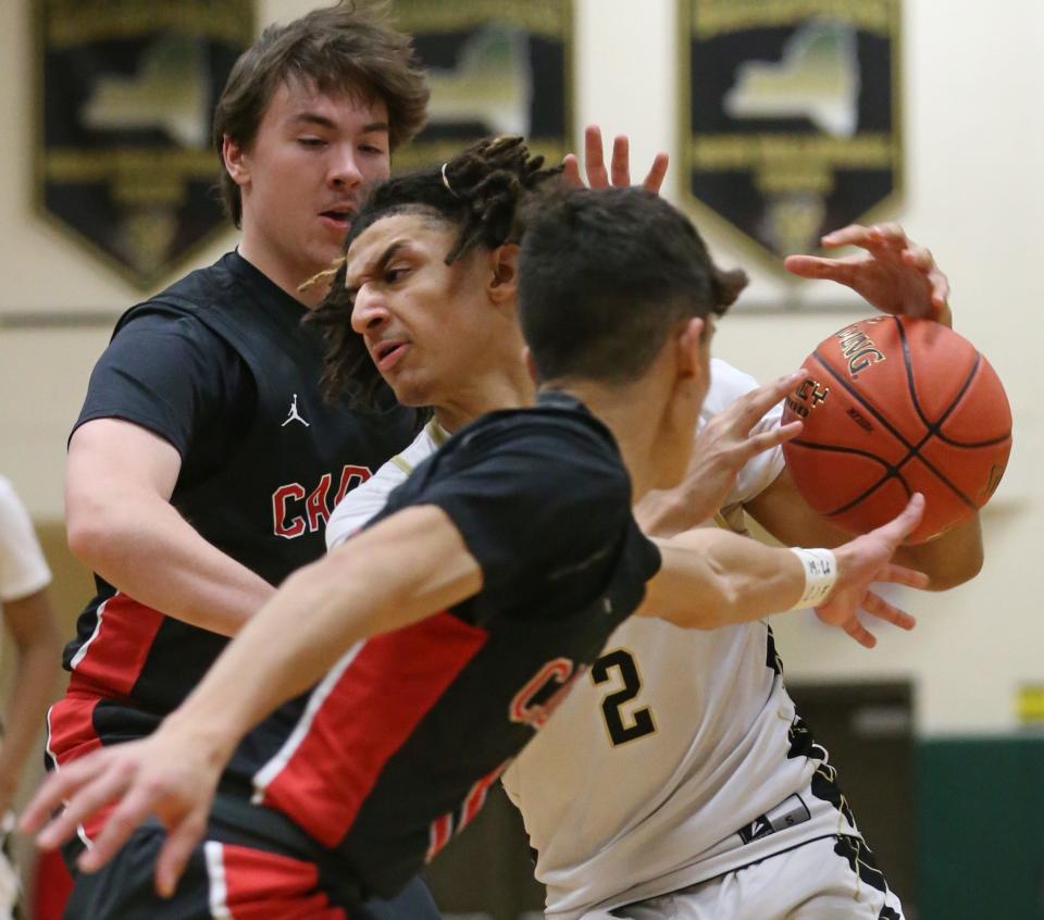
M 399 512 L 287 579 L 170 721 L 227 756 L 356 643 L 445 610 L 481 587 L 477 563 L 444 512 Z

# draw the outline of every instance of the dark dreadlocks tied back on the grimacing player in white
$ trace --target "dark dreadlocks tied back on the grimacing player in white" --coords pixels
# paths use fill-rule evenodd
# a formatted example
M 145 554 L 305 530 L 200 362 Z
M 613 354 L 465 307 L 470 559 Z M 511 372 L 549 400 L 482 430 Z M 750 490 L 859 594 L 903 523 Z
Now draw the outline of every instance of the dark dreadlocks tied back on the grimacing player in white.
M 496 249 L 515 243 L 522 234 L 522 203 L 530 192 L 561 167 L 544 167 L 543 157 L 531 157 L 521 137 L 481 140 L 444 166 L 406 173 L 376 186 L 363 202 L 345 239 L 345 252 L 377 221 L 395 214 L 428 214 L 458 227 L 446 253 L 446 264 L 472 249 Z M 351 327 L 353 301 L 345 289 L 347 262 L 338 260 L 316 279 L 330 279 L 330 290 L 307 316 L 326 344 L 323 388 L 327 398 L 347 397 L 355 409 L 382 406 L 384 381 L 366 351 L 362 336 Z

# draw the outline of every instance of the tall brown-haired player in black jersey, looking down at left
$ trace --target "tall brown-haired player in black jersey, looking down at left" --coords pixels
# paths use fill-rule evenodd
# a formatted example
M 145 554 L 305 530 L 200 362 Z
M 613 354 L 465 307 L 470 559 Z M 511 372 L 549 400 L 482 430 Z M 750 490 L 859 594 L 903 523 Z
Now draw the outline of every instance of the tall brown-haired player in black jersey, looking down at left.
M 98 594 L 50 711 L 52 769 L 151 732 L 323 552 L 336 500 L 412 437 L 390 399 L 370 414 L 325 402 L 321 343 L 300 325 L 322 290 L 298 285 L 340 254 L 364 189 L 424 120 L 424 77 L 381 9 L 316 10 L 240 57 L 213 132 L 238 248 L 128 311 L 91 375 L 66 519 Z

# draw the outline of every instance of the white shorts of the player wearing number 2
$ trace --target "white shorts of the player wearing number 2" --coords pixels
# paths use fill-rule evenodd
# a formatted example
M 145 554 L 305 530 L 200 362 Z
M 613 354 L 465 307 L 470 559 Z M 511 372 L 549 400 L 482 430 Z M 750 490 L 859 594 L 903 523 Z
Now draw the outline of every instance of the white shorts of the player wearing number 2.
M 810 841 L 760 862 L 582 920 L 904 920 L 859 837 Z

